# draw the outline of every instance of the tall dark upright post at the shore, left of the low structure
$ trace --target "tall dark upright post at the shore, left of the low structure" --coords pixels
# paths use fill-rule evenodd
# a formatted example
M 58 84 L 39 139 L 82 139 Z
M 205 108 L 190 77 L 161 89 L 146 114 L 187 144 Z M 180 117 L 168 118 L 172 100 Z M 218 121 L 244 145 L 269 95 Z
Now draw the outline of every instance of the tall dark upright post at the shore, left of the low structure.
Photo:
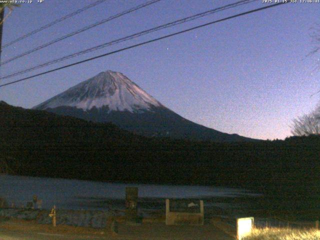
M 126 221 L 126 224 L 129 224 L 129 225 L 138 224 L 137 200 L 138 200 L 138 188 L 137 187 L 126 187 L 125 188 L 125 221 Z

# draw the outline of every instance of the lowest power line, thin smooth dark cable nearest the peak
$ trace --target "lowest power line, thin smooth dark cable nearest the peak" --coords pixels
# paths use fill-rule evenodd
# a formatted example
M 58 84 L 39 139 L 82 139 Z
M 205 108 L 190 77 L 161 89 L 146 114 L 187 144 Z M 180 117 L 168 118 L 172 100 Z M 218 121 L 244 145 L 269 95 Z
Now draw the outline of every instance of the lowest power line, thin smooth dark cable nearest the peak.
M 264 10 L 264 9 L 267 9 L 267 8 L 270 8 L 270 7 L 274 7 L 274 6 L 278 6 L 278 5 L 281 5 L 281 4 L 285 4 L 285 3 L 287 3 L 287 2 L 275 3 L 275 4 L 271 4 L 271 5 L 255 8 L 253 10 L 245 11 L 245 12 L 242 12 L 242 13 L 238 13 L 238 14 L 235 14 L 235 15 L 232 15 L 232 16 L 224 17 L 224 18 L 221 18 L 221 19 L 218 19 L 218 20 L 215 20 L 215 21 L 210 21 L 208 23 L 197 25 L 197 26 L 194 26 L 194 27 L 182 30 L 182 31 L 174 32 L 174 33 L 171 33 L 171 34 L 168 34 L 168 35 L 164 35 L 164 36 L 161 36 L 161 37 L 157 37 L 157 38 L 154 38 L 154 39 L 151 39 L 151 40 L 148 40 L 148 41 L 144 41 L 144 42 L 137 43 L 137 44 L 134 44 L 134 45 L 131 45 L 131 46 L 127 46 L 127 47 L 124 47 L 124 48 L 120 48 L 120 49 L 117 49 L 117 50 L 114 50 L 114 51 L 110 51 L 110 52 L 107 52 L 107 53 L 104 53 L 104 54 L 101 54 L 101 55 L 98 55 L 98 56 L 90 57 L 90 58 L 87 58 L 85 60 L 77 61 L 77 62 L 68 64 L 68 65 L 64 65 L 64 66 L 57 67 L 57 68 L 54 68 L 54 69 L 51 69 L 51 70 L 48 70 L 48 71 L 44 71 L 44 72 L 41 72 L 41 73 L 38 73 L 38 74 L 34 74 L 32 76 L 28 76 L 28 77 L 24 77 L 24 78 L 15 80 L 15 81 L 7 82 L 7 83 L 4 83 L 4 84 L 1 84 L 0 87 L 6 86 L 6 85 L 10 85 L 10 84 L 13 84 L 13 83 L 16 83 L 16 82 L 19 82 L 19 81 L 24 81 L 24 80 L 27 80 L 27 79 L 30 79 L 30 78 L 33 78 L 33 77 L 36 77 L 36 76 L 47 74 L 49 72 L 57 71 L 57 70 L 60 70 L 60 69 L 63 69 L 63 68 L 67 68 L 67 67 L 70 67 L 70 66 L 73 66 L 73 65 L 77 65 L 77 64 L 86 62 L 86 61 L 94 60 L 96 58 L 100 58 L 100 57 L 103 57 L 103 56 L 111 55 L 111 54 L 114 54 L 116 52 L 124 51 L 124 50 L 130 49 L 130 48 L 133 48 L 133 47 L 141 46 L 141 45 L 144 45 L 144 44 L 147 44 L 147 43 L 151 43 L 151 42 L 154 42 L 154 41 L 157 41 L 157 40 L 161 40 L 161 39 L 168 38 L 168 37 L 171 37 L 171 36 L 174 36 L 174 35 L 178 35 L 178 34 L 181 34 L 181 33 L 184 33 L 184 32 L 188 32 L 188 31 L 200 28 L 200 27 L 208 26 L 208 25 L 211 25 L 211 24 L 214 24 L 214 23 L 217 23 L 217 22 L 225 21 L 225 20 L 228 20 L 228 19 L 231 19 L 231 18 L 235 18 L 235 17 L 238 17 L 238 16 L 246 15 L 246 14 L 249 14 L 249 13 L 252 13 L 252 12 L 261 11 L 261 10 Z

